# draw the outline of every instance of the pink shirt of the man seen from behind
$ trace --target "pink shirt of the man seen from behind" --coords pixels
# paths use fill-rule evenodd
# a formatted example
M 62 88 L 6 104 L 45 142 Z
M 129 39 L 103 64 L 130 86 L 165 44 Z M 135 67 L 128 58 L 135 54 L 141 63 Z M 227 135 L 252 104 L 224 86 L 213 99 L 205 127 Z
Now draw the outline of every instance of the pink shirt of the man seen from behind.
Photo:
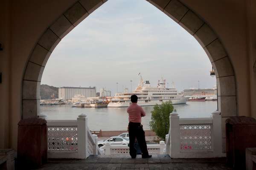
M 137 105 L 137 103 L 132 103 L 127 108 L 127 113 L 129 114 L 129 122 L 134 123 L 141 123 L 141 117 L 146 116 L 146 113 L 143 110 L 143 108 Z

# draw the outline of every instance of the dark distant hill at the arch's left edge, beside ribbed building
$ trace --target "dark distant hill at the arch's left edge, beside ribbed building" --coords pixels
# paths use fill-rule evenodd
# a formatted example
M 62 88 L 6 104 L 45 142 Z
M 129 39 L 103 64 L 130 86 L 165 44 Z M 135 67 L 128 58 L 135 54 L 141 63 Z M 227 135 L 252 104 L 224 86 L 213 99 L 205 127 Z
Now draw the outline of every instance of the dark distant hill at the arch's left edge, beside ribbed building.
M 58 88 L 49 85 L 41 85 L 40 96 L 41 99 L 52 99 L 54 94 L 55 99 L 58 99 Z

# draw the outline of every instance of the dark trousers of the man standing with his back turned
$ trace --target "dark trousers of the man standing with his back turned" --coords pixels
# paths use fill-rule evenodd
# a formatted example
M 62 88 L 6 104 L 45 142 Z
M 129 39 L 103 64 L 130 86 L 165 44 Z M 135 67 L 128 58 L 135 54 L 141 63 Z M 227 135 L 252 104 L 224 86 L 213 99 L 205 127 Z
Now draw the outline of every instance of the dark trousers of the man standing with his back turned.
M 130 155 L 132 158 L 136 157 L 136 149 L 134 148 L 135 137 L 140 145 L 142 156 L 148 156 L 148 148 L 145 140 L 145 132 L 140 123 L 129 122 L 129 140 L 130 140 Z

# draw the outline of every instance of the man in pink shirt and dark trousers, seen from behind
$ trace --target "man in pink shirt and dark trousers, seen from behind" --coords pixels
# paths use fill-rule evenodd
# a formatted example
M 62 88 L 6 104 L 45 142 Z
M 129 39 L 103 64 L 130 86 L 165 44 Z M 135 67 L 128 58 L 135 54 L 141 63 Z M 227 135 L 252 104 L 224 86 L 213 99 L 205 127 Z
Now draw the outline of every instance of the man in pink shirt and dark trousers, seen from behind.
M 145 140 L 145 132 L 143 126 L 141 125 L 141 117 L 146 116 L 145 111 L 139 105 L 137 105 L 138 97 L 136 95 L 131 96 L 132 104 L 128 107 L 127 113 L 129 114 L 129 140 L 130 140 L 130 155 L 131 158 L 136 158 L 136 149 L 134 148 L 135 138 L 140 145 L 142 152 L 142 158 L 150 158 L 148 155 L 147 143 Z

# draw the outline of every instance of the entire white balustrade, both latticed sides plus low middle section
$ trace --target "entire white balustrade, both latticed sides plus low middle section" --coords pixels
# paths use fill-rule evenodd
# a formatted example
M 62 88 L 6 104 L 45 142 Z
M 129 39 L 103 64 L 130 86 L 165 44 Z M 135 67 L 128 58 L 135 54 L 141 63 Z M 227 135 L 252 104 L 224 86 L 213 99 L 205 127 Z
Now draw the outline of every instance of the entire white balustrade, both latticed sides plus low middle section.
M 44 114 L 39 118 L 46 119 Z M 88 128 L 85 114 L 77 120 L 47 120 L 48 158 L 85 159 L 90 155 L 129 154 L 128 145 L 112 145 L 107 142 L 98 147 L 98 136 Z M 148 153 L 169 154 L 172 158 L 210 158 L 225 156 L 221 144 L 221 114 L 212 113 L 209 118 L 182 118 L 176 112 L 170 114 L 169 134 L 166 144 L 148 144 Z

